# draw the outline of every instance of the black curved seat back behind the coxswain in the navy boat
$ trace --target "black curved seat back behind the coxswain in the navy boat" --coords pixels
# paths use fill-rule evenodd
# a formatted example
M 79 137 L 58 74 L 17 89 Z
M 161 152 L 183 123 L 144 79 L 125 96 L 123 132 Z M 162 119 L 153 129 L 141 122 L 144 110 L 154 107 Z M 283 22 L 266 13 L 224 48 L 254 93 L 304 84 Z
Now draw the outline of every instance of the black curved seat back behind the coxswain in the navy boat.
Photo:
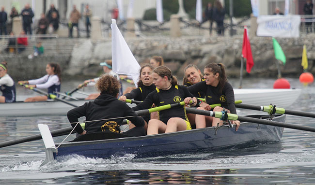
M 115 133 L 110 131 L 105 132 L 94 132 L 87 133 L 82 136 L 77 137 L 73 141 L 70 142 L 83 142 L 83 141 L 96 141 L 96 140 L 108 140 L 108 139 L 117 139 L 117 138 L 128 138 L 133 137 L 126 134 Z

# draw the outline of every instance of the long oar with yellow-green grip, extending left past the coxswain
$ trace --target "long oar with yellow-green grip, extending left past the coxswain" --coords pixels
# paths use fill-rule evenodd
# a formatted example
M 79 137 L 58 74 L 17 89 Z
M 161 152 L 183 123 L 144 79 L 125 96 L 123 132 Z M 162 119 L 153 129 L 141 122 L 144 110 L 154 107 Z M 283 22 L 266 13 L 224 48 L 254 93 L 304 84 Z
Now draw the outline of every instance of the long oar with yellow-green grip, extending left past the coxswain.
M 181 106 L 181 105 L 185 105 L 185 102 L 181 101 L 178 103 L 163 105 L 163 106 L 154 107 L 151 109 L 139 110 L 139 111 L 136 111 L 136 114 L 138 114 L 138 115 L 150 114 L 150 113 L 153 113 L 156 111 L 162 111 L 162 110 L 170 109 L 170 108 L 173 108 L 176 106 Z M 84 127 L 84 126 L 85 126 L 85 123 L 81 123 L 81 127 Z M 51 135 L 52 135 L 52 137 L 67 135 L 71 132 L 72 129 L 73 129 L 72 127 L 67 127 L 67 128 L 61 128 L 61 129 L 53 130 L 53 131 L 51 131 Z M 73 132 L 73 133 L 76 133 L 76 132 Z M 37 135 L 29 136 L 26 138 L 21 138 L 21 139 L 7 141 L 7 142 L 1 142 L 0 148 L 5 147 L 5 146 L 11 146 L 11 145 L 23 143 L 23 142 L 31 142 L 31 141 L 35 141 L 35 140 L 40 140 L 40 139 L 42 139 L 42 136 L 40 134 L 37 134 Z

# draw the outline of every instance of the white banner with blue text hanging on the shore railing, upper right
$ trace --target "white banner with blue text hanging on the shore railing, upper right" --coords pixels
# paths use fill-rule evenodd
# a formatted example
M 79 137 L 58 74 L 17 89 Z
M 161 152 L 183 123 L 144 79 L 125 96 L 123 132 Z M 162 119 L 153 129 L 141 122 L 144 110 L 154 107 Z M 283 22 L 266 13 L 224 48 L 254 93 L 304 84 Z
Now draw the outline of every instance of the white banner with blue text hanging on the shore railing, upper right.
M 299 37 L 299 15 L 259 15 L 257 36 Z

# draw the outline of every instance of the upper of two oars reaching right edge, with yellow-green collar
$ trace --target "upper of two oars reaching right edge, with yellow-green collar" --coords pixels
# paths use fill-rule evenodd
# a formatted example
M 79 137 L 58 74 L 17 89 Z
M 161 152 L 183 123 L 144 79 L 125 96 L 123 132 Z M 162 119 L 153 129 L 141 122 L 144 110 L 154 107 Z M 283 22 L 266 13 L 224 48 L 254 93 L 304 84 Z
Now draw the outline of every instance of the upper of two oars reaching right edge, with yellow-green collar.
M 251 109 L 255 111 L 263 111 L 266 113 L 272 113 L 272 106 L 258 106 L 258 105 L 249 105 L 249 104 L 239 104 L 236 105 L 237 108 L 242 109 Z M 313 113 L 305 113 L 305 112 L 299 112 L 299 111 L 290 111 L 286 110 L 284 108 L 275 107 L 275 114 L 290 114 L 290 115 L 299 115 L 304 117 L 313 117 L 315 118 L 315 114 Z

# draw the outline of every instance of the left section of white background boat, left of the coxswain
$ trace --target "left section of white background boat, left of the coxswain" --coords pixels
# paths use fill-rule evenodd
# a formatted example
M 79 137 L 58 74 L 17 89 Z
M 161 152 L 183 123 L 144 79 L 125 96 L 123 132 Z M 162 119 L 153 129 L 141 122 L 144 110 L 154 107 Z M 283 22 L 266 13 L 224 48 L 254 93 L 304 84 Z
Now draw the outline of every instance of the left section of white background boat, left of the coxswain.
M 76 106 L 83 105 L 88 101 L 91 100 L 67 100 Z M 17 101 L 0 106 L 0 116 L 65 115 L 70 109 L 73 109 L 73 106 L 61 101 Z

